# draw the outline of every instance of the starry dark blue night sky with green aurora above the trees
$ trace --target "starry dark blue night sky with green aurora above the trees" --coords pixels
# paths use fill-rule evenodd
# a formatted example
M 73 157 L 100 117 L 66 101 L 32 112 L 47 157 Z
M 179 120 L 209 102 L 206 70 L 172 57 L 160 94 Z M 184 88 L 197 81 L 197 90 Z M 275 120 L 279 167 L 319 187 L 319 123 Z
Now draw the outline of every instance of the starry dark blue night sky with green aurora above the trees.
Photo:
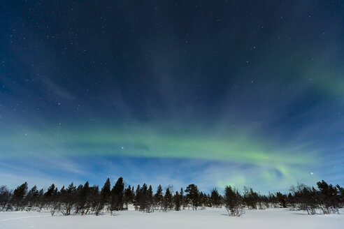
M 344 184 L 343 1 L 1 1 L 0 183 Z

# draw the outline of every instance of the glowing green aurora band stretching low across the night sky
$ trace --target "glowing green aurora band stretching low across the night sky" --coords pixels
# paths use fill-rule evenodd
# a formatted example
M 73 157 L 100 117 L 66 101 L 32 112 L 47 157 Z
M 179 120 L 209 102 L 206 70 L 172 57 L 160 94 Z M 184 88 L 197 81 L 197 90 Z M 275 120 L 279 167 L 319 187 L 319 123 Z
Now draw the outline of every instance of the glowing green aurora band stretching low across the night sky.
M 217 186 L 242 186 L 254 179 L 278 181 L 280 185 L 297 182 L 310 176 L 321 159 L 317 152 L 306 152 L 299 147 L 284 149 L 271 147 L 250 135 L 231 133 L 211 134 L 162 131 L 159 128 L 77 128 L 78 131 L 27 131 L 20 135 L 1 138 L 1 159 L 16 156 L 124 156 L 140 158 L 179 158 L 250 165 L 261 172 L 245 175 L 233 171 L 216 177 Z M 115 130 L 115 131 L 114 131 Z M 26 152 L 25 154 L 23 152 Z M 315 179 L 316 176 L 313 176 Z M 230 182 L 229 182 L 230 180 Z

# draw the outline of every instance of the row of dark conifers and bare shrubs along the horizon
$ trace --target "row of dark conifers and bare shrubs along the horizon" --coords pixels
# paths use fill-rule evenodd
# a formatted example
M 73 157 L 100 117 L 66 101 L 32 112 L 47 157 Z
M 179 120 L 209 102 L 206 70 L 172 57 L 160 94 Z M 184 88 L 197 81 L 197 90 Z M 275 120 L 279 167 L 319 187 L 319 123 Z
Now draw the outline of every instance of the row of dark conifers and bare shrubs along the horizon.
M 304 184 L 292 186 L 289 193 L 269 193 L 260 195 L 245 187 L 243 192 L 232 186 L 226 186 L 223 195 L 217 189 L 210 193 L 199 191 L 195 184 L 189 184 L 185 190 L 172 191 L 171 187 L 162 189 L 159 185 L 153 192 L 152 186 L 143 184 L 124 186 L 122 177 L 111 188 L 110 179 L 103 187 L 84 185 L 57 189 L 52 184 L 48 190 L 38 190 L 37 186 L 28 189 L 28 184 L 17 186 L 10 191 L 0 187 L 0 207 L 2 211 L 50 211 L 52 216 L 59 212 L 70 214 L 105 214 L 128 209 L 134 205 L 140 212 L 180 211 L 182 209 L 205 209 L 206 207 L 225 207 L 229 216 L 241 216 L 244 209 L 286 208 L 303 210 L 308 214 L 336 214 L 344 206 L 344 188 L 339 185 L 317 182 L 317 187 Z

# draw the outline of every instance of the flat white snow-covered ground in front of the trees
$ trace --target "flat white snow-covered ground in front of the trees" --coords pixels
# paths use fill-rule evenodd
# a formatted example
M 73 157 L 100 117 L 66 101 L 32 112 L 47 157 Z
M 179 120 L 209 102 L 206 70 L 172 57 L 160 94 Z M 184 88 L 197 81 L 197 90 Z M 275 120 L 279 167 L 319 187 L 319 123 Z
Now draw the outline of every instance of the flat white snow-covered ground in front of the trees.
M 313 215 L 289 209 L 246 210 L 229 217 L 225 209 L 142 213 L 116 212 L 113 216 L 50 216 L 49 212 L 0 212 L 1 229 L 21 228 L 344 228 L 342 214 Z

